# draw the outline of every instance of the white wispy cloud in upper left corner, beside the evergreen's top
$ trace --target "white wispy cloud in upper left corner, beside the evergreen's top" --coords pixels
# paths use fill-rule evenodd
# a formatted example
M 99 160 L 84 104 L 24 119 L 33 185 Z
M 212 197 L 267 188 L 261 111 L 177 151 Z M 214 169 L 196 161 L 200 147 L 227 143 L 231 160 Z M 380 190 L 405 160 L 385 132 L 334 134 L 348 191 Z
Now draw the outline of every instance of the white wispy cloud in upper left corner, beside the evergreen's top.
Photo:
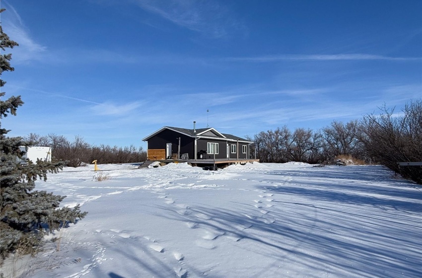
M 4 32 L 19 43 L 19 47 L 10 51 L 13 54 L 13 63 L 24 63 L 30 60 L 40 60 L 41 55 L 46 51 L 46 47 L 35 42 L 30 36 L 21 17 L 16 9 L 7 1 L 4 1 L 6 11 L 2 13 L 2 27 Z

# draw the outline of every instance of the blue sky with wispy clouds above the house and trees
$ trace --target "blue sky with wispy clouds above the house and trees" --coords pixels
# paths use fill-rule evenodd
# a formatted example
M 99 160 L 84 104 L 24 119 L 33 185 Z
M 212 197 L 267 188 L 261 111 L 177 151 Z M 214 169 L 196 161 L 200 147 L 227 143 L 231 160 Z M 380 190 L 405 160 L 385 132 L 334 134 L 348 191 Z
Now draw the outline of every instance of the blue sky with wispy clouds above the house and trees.
M 11 136 L 317 130 L 422 98 L 420 0 L 1 0 Z M 207 109 L 209 113 L 207 115 Z M 208 117 L 207 117 L 208 116 Z

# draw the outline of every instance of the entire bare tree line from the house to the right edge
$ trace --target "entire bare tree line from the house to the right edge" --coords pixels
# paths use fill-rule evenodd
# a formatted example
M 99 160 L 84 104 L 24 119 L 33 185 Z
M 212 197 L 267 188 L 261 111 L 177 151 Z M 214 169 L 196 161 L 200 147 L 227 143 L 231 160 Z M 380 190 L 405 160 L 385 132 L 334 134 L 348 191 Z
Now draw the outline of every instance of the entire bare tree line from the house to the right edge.
M 398 162 L 422 161 L 422 101 L 410 101 L 401 113 L 380 108 L 348 123 L 333 121 L 317 131 L 286 126 L 260 132 L 253 138 L 251 153 L 261 162 L 333 163 L 352 156 L 366 163 L 387 166 L 403 177 L 422 184 L 422 166 L 399 166 Z

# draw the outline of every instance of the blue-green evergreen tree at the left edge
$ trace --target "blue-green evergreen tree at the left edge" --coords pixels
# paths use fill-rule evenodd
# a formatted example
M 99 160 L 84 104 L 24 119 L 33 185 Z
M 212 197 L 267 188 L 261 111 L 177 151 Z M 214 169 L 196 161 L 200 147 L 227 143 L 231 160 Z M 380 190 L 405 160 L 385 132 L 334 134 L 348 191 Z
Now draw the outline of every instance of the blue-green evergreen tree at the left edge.
M 4 11 L 1 9 L 0 12 Z M 0 76 L 4 71 L 13 71 L 10 66 L 11 54 L 3 54 L 6 48 L 18 44 L 9 39 L 0 25 L 1 52 Z M 0 86 L 6 82 L 0 79 Z M 5 95 L 0 92 L 0 97 Z M 16 116 L 16 110 L 23 104 L 20 96 L 0 99 L 0 119 L 7 115 Z M 13 252 L 16 247 L 25 242 L 28 252 L 31 247 L 38 246 L 42 237 L 43 227 L 58 228 L 76 219 L 83 218 L 87 212 L 81 212 L 79 205 L 75 208 L 60 208 L 60 202 L 66 196 L 53 195 L 46 191 L 34 191 L 37 179 L 47 180 L 47 173 L 57 173 L 63 167 L 63 162 L 46 162 L 38 160 L 32 163 L 27 160 L 25 165 L 17 161 L 25 151 L 20 146 L 28 147 L 29 143 L 20 137 L 6 137 L 9 130 L 3 129 L 0 122 L 0 254 L 1 258 Z

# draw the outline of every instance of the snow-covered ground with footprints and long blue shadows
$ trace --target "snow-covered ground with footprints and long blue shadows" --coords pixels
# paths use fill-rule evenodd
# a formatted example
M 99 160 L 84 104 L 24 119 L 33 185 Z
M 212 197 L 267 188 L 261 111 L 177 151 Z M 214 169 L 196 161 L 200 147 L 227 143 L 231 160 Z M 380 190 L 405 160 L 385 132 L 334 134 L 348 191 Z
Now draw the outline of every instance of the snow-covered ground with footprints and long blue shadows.
M 99 169 L 37 182 L 88 214 L 31 277 L 422 277 L 422 188 L 382 166 Z

